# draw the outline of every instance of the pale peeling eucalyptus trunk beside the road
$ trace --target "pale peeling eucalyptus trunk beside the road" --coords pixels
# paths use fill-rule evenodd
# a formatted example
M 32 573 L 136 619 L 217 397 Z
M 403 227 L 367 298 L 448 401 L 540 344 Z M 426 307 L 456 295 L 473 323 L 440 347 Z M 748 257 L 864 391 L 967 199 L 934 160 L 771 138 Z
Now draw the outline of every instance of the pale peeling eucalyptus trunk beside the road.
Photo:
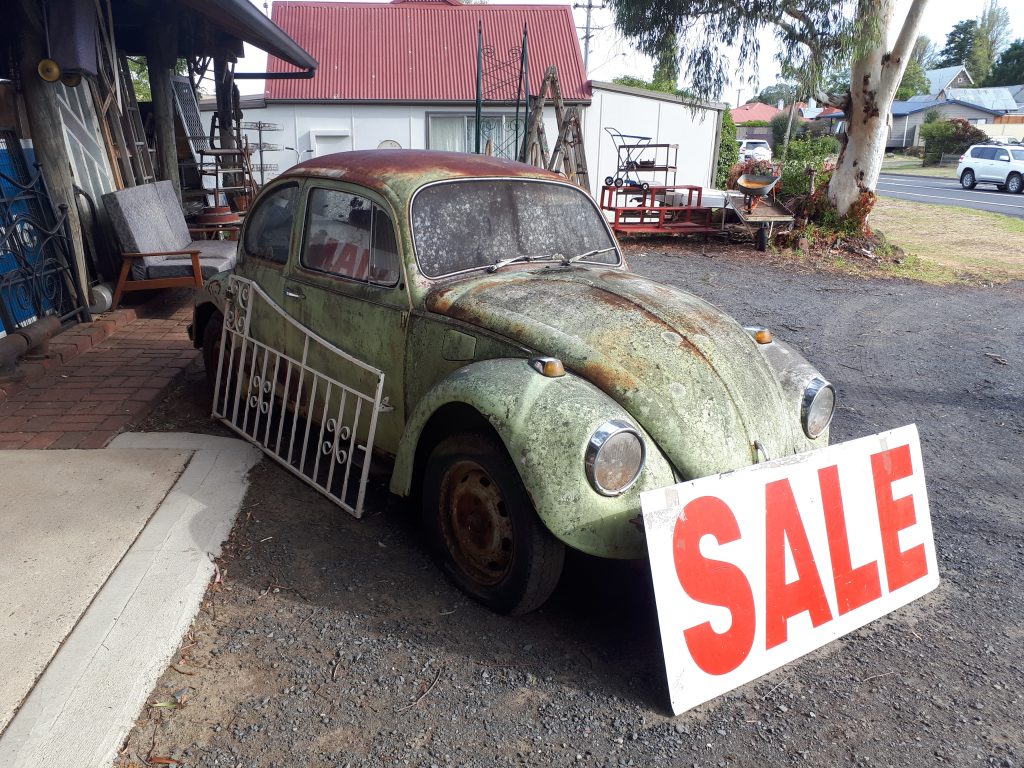
M 853 61 L 846 104 L 846 140 L 828 182 L 828 200 L 841 216 L 873 193 L 882 171 L 893 97 L 910 59 L 927 0 L 913 0 L 899 38 L 887 52 L 895 0 L 859 0 L 859 18 L 878 19 L 879 42 Z

